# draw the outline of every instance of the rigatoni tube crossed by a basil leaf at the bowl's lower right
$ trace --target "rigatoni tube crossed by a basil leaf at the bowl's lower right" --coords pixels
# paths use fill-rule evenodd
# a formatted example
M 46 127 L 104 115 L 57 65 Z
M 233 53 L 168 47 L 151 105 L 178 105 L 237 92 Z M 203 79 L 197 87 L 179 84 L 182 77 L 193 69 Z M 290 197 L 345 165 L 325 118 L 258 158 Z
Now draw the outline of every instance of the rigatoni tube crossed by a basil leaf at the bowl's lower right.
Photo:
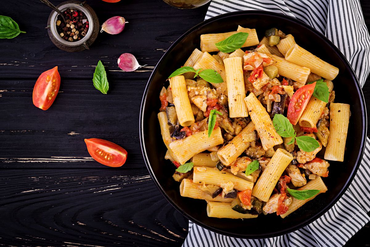
M 318 193 L 318 194 L 320 194 L 320 193 L 325 193 L 327 191 L 327 188 L 326 188 L 323 180 L 321 179 L 321 177 L 316 177 L 315 179 L 310 180 L 304 186 L 297 188 L 297 190 L 320 190 L 320 192 Z M 280 217 L 282 217 L 282 218 L 287 217 L 289 214 L 293 213 L 298 208 L 302 207 L 303 204 L 305 204 L 307 201 L 310 201 L 313 198 L 315 198 L 318 194 L 316 194 L 315 196 L 310 197 L 306 200 L 298 200 L 298 199 L 292 197 L 292 203 L 290 203 L 288 211 L 286 211 L 285 214 L 280 214 Z

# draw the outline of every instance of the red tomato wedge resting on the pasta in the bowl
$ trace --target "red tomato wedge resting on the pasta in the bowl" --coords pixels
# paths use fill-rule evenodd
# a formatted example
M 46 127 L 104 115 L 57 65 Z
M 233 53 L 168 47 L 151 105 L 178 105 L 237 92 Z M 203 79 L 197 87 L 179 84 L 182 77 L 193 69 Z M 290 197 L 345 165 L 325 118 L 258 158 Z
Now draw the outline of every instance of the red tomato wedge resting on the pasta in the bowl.
M 301 87 L 293 94 L 292 99 L 290 99 L 286 117 L 293 125 L 296 125 L 302 116 L 315 86 L 316 82 Z

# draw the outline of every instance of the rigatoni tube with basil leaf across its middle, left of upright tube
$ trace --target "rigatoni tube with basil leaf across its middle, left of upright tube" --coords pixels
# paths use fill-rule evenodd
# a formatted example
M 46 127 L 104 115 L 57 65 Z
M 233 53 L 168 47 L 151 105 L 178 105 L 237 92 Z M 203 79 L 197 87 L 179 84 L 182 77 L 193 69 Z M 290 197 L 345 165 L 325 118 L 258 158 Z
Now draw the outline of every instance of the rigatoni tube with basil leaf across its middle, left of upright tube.
M 203 53 L 201 59 L 199 59 L 193 66 L 195 70 L 202 69 L 212 69 L 216 70 L 222 80 L 224 82 L 222 83 L 211 83 L 213 86 L 218 89 L 218 91 L 221 91 L 220 93 L 225 93 L 227 95 L 227 86 L 226 86 L 226 73 L 225 73 L 225 66 L 223 66 L 221 63 L 219 63 L 214 57 L 211 56 L 208 52 Z

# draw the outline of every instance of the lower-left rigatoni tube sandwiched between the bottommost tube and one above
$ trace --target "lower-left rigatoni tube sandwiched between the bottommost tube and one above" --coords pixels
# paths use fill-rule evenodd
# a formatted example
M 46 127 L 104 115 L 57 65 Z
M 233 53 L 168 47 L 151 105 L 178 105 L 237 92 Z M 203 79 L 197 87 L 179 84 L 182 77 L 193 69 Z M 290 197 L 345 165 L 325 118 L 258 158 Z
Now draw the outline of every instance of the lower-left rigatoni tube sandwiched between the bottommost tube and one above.
M 184 197 L 190 197 L 194 199 L 203 199 L 208 201 L 222 201 L 222 202 L 231 202 L 233 198 L 223 198 L 220 195 L 212 198 L 209 194 L 205 193 L 199 186 L 203 184 L 194 183 L 193 180 L 184 178 L 180 184 L 180 195 Z

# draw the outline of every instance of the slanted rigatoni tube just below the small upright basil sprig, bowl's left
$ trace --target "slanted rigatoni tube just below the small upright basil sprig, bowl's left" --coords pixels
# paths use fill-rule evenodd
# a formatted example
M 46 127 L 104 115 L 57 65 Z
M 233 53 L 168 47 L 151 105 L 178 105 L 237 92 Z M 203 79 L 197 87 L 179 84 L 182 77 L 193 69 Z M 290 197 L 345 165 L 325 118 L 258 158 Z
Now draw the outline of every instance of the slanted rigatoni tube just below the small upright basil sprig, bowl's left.
M 208 148 L 215 147 L 223 143 L 221 128 L 217 127 L 208 137 L 208 130 L 201 131 L 181 140 L 172 141 L 169 144 L 172 152 L 178 158 L 180 164 L 184 164 L 195 154 L 201 153 Z

